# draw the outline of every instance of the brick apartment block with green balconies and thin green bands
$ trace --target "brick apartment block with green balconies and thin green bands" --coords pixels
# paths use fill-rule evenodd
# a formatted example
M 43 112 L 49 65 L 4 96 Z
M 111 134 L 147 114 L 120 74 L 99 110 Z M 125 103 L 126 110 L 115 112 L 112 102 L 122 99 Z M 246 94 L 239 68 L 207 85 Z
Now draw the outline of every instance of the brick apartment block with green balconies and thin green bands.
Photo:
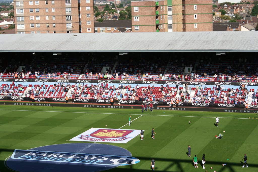
M 212 0 L 132 1 L 133 32 L 212 31 Z

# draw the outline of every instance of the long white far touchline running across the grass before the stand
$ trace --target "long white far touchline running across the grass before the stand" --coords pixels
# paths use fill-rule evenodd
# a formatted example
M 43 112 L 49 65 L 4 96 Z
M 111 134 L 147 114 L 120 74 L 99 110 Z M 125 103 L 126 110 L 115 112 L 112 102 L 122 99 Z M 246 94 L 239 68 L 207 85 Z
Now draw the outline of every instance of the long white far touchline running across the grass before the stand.
M 9 111 L 32 111 L 32 112 L 65 112 L 65 111 L 37 111 L 37 110 L 11 110 L 11 109 L 0 109 Z M 215 117 L 200 117 L 200 116 L 180 116 L 180 115 L 151 115 L 151 114 L 129 114 L 129 113 L 98 113 L 98 112 L 65 112 L 65 113 L 95 113 L 95 114 L 117 114 L 117 115 L 145 115 L 145 116 L 166 116 L 166 117 L 197 117 L 197 118 L 215 118 Z M 219 117 L 227 118 L 227 117 Z M 252 118 L 229 118 L 229 119 L 252 119 Z M 254 118 L 255 119 L 255 118 Z M 257 119 L 258 120 L 258 119 Z

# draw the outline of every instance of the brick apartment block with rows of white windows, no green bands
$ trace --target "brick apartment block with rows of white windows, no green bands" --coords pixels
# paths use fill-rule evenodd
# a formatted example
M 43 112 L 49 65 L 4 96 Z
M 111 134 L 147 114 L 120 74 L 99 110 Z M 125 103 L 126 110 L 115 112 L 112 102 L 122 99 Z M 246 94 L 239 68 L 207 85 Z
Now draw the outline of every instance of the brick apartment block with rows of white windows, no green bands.
M 94 33 L 93 0 L 14 1 L 16 34 Z

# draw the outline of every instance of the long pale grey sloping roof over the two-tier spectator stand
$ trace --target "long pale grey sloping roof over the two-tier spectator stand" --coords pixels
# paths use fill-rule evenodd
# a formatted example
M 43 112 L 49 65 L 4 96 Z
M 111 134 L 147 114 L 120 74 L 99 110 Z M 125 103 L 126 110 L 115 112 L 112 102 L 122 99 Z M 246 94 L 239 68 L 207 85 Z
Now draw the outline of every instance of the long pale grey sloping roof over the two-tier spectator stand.
M 258 52 L 258 32 L 1 34 L 0 52 Z

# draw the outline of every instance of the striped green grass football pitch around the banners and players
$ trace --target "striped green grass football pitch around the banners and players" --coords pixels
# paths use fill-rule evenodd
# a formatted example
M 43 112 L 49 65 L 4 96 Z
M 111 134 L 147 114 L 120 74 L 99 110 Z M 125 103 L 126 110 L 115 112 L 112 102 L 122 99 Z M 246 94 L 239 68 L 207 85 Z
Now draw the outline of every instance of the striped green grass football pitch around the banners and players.
M 128 126 L 130 116 L 132 123 Z M 216 116 L 220 119 L 219 127 L 214 124 Z M 151 158 L 155 160 L 155 171 L 257 172 L 257 118 L 254 113 L 172 110 L 142 113 L 140 109 L 0 105 L 0 172 L 12 171 L 5 166 L 5 160 L 14 149 L 94 143 L 69 141 L 91 128 L 144 130 L 143 141 L 138 135 L 127 143 L 97 142 L 125 148 L 140 160 L 134 165 L 107 170 L 110 172 L 151 171 Z M 152 128 L 155 140 L 151 138 Z M 223 134 L 222 139 L 215 138 L 219 133 Z M 191 157 L 187 155 L 188 145 Z M 241 168 L 245 153 L 248 168 Z M 201 166 L 203 154 L 206 155 L 205 170 Z M 192 163 L 194 155 L 198 157 L 197 169 Z

